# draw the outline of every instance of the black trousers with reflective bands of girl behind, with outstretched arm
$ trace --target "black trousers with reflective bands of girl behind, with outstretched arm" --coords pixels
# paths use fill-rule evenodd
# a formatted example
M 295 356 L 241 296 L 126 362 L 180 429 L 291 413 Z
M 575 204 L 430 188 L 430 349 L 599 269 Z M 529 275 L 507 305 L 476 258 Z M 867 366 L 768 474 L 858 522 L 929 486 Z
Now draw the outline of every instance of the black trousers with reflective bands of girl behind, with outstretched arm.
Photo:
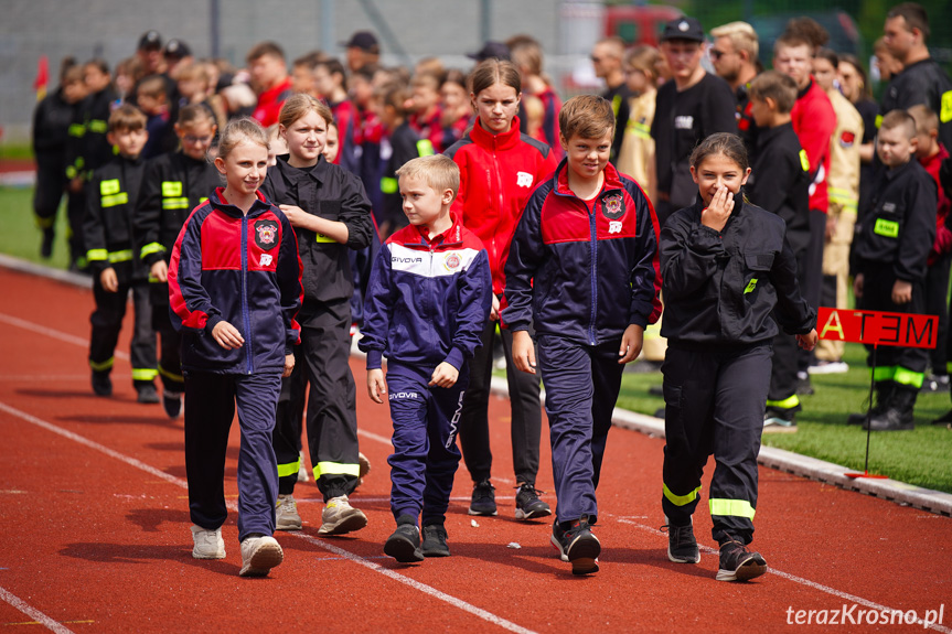
M 350 327 L 349 308 L 322 312 L 302 324 L 295 370 L 281 380 L 274 433 L 282 495 L 293 493 L 298 482 L 306 398 L 308 449 L 324 501 L 350 495 L 357 486 L 357 390 L 349 363 Z

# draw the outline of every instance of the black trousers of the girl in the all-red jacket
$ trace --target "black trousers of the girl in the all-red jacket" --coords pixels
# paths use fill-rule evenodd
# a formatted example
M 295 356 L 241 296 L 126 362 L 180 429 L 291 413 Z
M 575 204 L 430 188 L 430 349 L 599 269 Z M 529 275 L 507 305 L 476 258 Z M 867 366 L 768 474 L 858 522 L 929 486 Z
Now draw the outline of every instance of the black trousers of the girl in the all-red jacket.
M 489 441 L 489 399 L 493 369 L 493 340 L 496 322 L 483 329 L 482 346 L 470 362 L 470 384 L 463 398 L 459 439 L 463 459 L 473 482 L 490 477 L 492 450 Z M 538 444 L 542 436 L 542 404 L 538 375 L 516 369 L 512 359 L 512 332 L 500 330 L 505 354 L 506 382 L 512 407 L 512 461 L 516 482 L 535 484 L 538 474 Z

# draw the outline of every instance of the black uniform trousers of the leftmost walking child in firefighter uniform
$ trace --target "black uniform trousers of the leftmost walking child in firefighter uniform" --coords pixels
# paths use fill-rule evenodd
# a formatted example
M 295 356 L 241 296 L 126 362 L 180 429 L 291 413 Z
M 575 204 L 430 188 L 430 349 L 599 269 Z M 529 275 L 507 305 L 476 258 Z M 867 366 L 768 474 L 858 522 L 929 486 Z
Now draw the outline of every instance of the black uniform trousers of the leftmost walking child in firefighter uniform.
M 120 278 L 121 279 L 121 278 Z M 93 333 L 89 339 L 89 366 L 95 370 L 110 370 L 113 355 L 126 316 L 129 292 L 132 293 L 135 310 L 135 329 L 132 343 L 129 347 L 129 359 L 132 362 L 132 383 L 142 385 L 152 383 L 156 378 L 156 331 L 152 330 L 152 305 L 149 299 L 149 283 L 141 281 L 122 281 L 115 293 L 107 292 L 96 276 L 93 280 L 93 298 L 96 310 L 89 322 Z

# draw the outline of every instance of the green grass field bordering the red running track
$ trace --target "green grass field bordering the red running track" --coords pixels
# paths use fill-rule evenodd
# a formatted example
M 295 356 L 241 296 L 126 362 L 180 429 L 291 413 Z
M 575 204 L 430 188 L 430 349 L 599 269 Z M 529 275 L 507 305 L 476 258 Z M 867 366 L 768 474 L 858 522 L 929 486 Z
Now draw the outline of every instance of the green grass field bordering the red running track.
M 40 262 L 40 230 L 33 223 L 30 189 L 0 187 L 0 252 Z M 65 209 L 61 209 L 56 244 L 50 266 L 67 265 Z M 816 394 L 803 397 L 803 411 L 798 415 L 796 433 L 770 434 L 764 443 L 821 460 L 827 460 L 863 471 L 866 432 L 847 427 L 846 416 L 862 411 L 869 394 L 866 352 L 847 344 L 847 374 L 814 376 Z M 661 397 L 649 395 L 653 385 L 661 385 L 661 373 L 624 374 L 618 405 L 625 409 L 653 415 L 664 406 Z M 952 493 L 952 429 L 929 421 L 952 407 L 948 393 L 920 395 L 916 404 L 914 431 L 873 434 L 869 471 L 892 479 Z

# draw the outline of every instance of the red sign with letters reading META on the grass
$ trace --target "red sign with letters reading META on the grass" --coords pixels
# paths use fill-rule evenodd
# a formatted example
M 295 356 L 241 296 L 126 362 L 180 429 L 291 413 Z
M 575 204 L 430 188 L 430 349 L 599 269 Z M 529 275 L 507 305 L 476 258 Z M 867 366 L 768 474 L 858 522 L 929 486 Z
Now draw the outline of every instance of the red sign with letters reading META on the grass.
M 816 332 L 820 339 L 834 341 L 933 348 L 939 318 L 820 307 Z

